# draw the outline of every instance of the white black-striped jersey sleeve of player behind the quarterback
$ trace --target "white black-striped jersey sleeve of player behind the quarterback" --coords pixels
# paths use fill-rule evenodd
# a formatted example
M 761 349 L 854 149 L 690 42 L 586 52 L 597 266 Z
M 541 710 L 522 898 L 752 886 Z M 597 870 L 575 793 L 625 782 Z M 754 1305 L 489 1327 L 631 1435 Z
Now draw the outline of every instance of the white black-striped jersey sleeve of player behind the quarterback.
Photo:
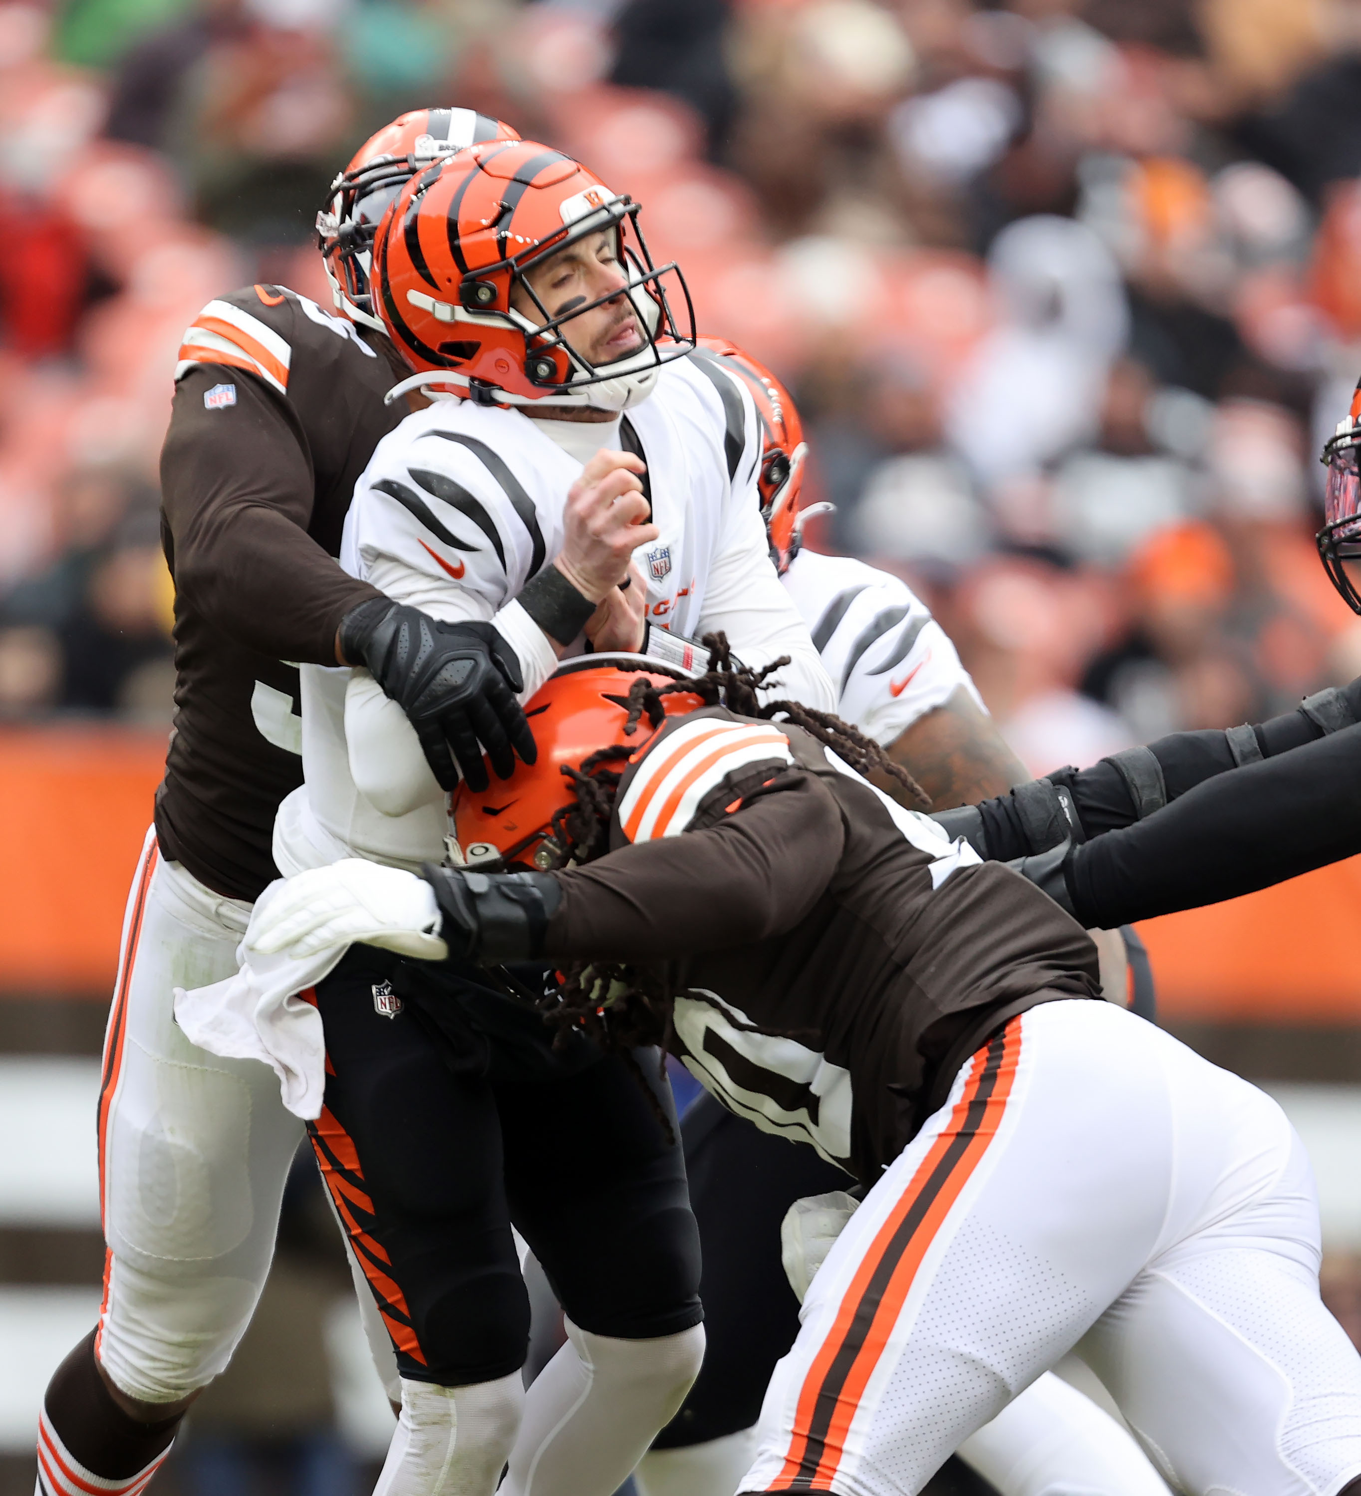
M 848 557 L 800 551 L 784 585 L 836 687 L 838 712 L 875 742 L 887 748 L 959 687 L 983 708 L 950 636 L 906 582 Z

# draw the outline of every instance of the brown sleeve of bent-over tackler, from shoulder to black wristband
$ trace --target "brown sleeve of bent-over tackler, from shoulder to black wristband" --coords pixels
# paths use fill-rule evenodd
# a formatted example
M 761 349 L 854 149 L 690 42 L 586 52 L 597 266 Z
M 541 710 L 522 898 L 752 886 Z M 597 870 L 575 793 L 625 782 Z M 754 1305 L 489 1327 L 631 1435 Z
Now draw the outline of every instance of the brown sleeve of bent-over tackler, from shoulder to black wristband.
M 707 830 L 555 874 L 562 902 L 544 954 L 667 960 L 778 935 L 817 904 L 844 841 L 830 791 L 788 772 Z

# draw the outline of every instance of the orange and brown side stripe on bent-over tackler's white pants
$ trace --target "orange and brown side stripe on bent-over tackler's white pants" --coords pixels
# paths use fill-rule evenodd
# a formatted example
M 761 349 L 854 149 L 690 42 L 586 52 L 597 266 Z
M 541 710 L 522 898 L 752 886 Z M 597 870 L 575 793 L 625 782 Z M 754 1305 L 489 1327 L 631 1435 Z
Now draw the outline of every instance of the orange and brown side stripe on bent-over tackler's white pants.
M 824 1490 L 836 1475 L 863 1387 L 888 1339 L 890 1325 L 881 1319 L 896 1319 L 902 1312 L 915 1267 L 996 1134 L 998 1112 L 1010 1095 L 1019 1049 L 1017 1020 L 989 1040 L 983 1064 L 966 1083 L 951 1122 L 909 1185 L 905 1209 L 888 1240 L 881 1246 L 881 1233 L 870 1248 L 861 1267 L 861 1273 L 870 1269 L 867 1281 L 857 1276 L 847 1293 L 829 1342 L 803 1384 L 784 1469 L 767 1490 Z M 1004 1061 L 1010 1061 L 1005 1070 Z M 891 1221 L 890 1216 L 888 1224 Z M 870 1267 L 875 1252 L 878 1260 Z M 912 1272 L 903 1279 L 900 1269 L 906 1258 L 911 1258 Z

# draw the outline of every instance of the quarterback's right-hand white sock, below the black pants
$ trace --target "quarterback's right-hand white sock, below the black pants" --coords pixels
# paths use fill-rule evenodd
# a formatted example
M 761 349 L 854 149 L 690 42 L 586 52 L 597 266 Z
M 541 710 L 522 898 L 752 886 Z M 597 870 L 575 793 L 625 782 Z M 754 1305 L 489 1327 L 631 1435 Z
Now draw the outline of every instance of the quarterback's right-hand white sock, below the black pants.
M 704 1327 L 655 1340 L 577 1328 L 538 1373 L 501 1496 L 612 1496 L 676 1415 L 704 1358 Z

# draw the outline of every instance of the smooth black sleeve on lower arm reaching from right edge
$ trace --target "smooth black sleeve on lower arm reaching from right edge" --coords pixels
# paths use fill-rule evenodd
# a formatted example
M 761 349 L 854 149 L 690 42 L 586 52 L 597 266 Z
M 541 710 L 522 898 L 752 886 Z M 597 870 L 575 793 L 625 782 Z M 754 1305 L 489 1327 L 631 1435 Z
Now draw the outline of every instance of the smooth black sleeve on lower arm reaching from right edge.
M 1361 853 L 1361 726 L 1216 775 L 1156 815 L 1074 847 L 1077 919 L 1113 929 L 1219 904 Z

